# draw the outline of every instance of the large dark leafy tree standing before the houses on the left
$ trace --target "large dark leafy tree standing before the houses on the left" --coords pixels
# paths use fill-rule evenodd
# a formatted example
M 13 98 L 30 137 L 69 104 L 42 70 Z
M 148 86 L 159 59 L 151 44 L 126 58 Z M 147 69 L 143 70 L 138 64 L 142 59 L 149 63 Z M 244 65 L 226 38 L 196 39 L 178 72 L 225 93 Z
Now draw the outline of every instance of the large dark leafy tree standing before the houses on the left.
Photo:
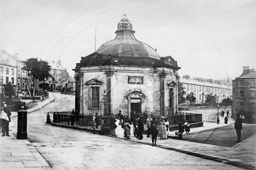
M 51 74 L 49 73 L 51 71 L 51 66 L 48 65 L 47 61 L 38 61 L 37 58 L 30 58 L 23 62 L 24 67 L 23 70 L 26 70 L 28 72 L 28 80 L 30 83 L 31 88 L 31 82 L 35 84 L 35 80 L 43 81 L 45 82 L 49 77 L 51 77 Z M 30 93 L 30 90 L 29 90 Z M 33 88 L 33 96 L 35 95 L 35 88 Z M 30 93 L 31 96 L 31 93 Z

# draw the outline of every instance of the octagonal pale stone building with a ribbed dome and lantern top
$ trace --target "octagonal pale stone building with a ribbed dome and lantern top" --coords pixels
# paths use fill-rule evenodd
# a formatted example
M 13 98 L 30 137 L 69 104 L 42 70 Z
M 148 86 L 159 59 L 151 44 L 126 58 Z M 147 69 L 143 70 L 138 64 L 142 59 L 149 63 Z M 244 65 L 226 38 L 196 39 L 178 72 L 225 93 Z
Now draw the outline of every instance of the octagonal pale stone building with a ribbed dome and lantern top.
M 134 36 L 124 14 L 115 39 L 76 64 L 75 109 L 83 115 L 178 112 L 177 62 Z

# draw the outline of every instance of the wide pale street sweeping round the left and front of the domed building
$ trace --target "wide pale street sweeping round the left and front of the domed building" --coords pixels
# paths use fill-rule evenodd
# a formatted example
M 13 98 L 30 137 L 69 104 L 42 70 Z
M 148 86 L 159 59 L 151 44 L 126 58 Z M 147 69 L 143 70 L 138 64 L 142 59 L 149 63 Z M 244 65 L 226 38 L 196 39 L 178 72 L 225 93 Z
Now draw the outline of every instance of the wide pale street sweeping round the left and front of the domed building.
M 47 112 L 72 108 L 70 104 L 73 96 L 58 93 L 53 95 L 55 95 L 55 102 L 28 114 L 28 140 L 52 169 L 241 169 L 230 164 L 164 149 L 164 147 L 152 147 L 133 140 L 46 125 Z M 13 117 L 13 121 L 17 122 L 17 117 Z M 16 135 L 15 128 L 12 128 L 11 135 L 13 134 Z M 3 140 L 2 138 L 1 146 Z M 149 138 L 144 137 L 142 142 L 147 140 L 150 141 Z M 200 146 L 199 143 L 179 146 L 179 141 L 174 139 L 162 141 L 158 139 L 158 143 L 195 151 Z

